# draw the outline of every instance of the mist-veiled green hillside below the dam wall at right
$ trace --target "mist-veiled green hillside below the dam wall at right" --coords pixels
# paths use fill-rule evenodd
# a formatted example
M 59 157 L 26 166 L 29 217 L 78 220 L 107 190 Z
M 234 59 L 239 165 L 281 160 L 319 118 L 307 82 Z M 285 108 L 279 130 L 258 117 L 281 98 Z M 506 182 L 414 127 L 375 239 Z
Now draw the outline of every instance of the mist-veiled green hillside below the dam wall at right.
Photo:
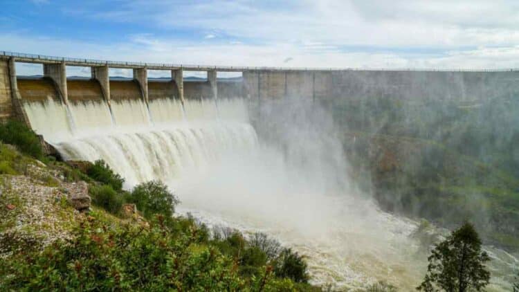
M 354 181 L 381 207 L 441 226 L 470 220 L 519 250 L 519 99 L 358 95 L 325 104 L 344 130 Z

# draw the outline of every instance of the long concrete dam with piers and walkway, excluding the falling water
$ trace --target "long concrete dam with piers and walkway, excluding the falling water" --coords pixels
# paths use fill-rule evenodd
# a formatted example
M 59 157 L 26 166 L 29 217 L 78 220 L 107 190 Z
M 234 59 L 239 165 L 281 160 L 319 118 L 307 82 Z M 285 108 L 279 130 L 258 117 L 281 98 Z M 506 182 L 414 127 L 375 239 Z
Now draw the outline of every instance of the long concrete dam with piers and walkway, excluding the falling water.
M 42 77 L 17 76 L 17 62 L 42 64 Z M 67 66 L 91 68 L 91 77 L 66 76 Z M 130 69 L 133 78 L 111 78 L 109 69 Z M 148 71 L 170 71 L 171 78 L 149 79 Z M 206 80 L 185 80 L 185 71 L 205 71 Z M 225 80 L 219 72 L 242 73 Z M 130 100 L 146 107 L 154 100 L 174 100 L 184 108 L 186 100 L 244 99 L 248 102 L 297 97 L 332 102 L 340 98 L 362 100 L 384 96 L 399 100 L 442 99 L 477 103 L 496 92 L 518 91 L 519 71 L 503 70 L 410 70 L 410 69 L 309 69 L 280 67 L 201 66 L 142 62 L 113 62 L 0 51 L 0 120 L 17 118 L 33 129 L 28 103 L 77 104 L 104 102 L 110 112 L 114 102 Z M 333 103 L 333 102 L 332 102 Z

